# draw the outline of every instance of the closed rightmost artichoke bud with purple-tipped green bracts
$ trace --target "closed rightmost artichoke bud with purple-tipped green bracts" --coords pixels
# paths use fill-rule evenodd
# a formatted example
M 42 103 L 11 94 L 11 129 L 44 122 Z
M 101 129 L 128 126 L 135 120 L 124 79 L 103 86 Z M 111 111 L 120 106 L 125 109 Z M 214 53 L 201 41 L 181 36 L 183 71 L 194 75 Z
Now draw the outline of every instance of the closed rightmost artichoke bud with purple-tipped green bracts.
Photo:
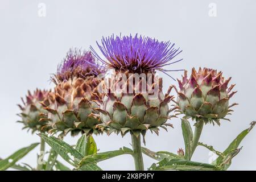
M 230 80 L 231 77 L 225 80 L 222 72 L 214 69 L 199 68 L 196 71 L 193 68 L 189 78 L 185 71 L 182 80 L 178 80 L 179 90 L 175 88 L 178 94 L 177 111 L 185 114 L 186 118 L 220 125 L 220 119 L 226 119 L 226 115 L 232 111 L 230 107 L 237 105 L 229 106 L 230 98 L 236 93 L 232 92 L 235 85 L 228 88 Z

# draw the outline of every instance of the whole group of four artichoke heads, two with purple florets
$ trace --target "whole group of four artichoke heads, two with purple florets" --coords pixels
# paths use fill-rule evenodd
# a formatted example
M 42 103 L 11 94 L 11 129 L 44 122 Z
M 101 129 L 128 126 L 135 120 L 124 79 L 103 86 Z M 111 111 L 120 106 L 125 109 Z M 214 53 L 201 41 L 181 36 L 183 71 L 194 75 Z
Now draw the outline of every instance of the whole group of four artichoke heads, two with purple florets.
M 98 43 L 97 43 L 98 44 Z M 185 117 L 216 122 L 232 111 L 229 99 L 234 85 L 228 88 L 222 72 L 213 69 L 192 69 L 191 76 L 185 71 L 179 82 L 179 90 L 170 86 L 164 94 L 162 78 L 156 71 L 167 72 L 164 66 L 181 51 L 170 42 L 142 36 L 110 36 L 102 38 L 102 59 L 92 52 L 70 49 L 56 74 L 53 92 L 36 90 L 28 93 L 24 106 L 20 106 L 22 123 L 32 131 L 99 134 L 131 133 L 145 135 L 147 130 L 158 134 L 159 127 L 167 130 L 168 119 L 175 117 L 172 111 Z M 103 66 L 105 65 L 105 66 Z M 113 70 L 113 78 L 104 77 Z M 168 75 L 168 74 L 167 74 Z M 175 88 L 178 96 L 170 96 Z M 176 106 L 170 108 L 170 102 Z M 180 155 L 181 150 L 178 152 Z

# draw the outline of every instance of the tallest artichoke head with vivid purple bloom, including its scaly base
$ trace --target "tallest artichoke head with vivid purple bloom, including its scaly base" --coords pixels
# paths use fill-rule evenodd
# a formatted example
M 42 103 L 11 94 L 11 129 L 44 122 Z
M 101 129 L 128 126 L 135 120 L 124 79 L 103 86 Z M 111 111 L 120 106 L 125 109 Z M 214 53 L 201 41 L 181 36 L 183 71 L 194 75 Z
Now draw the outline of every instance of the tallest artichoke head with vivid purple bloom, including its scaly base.
M 125 135 L 129 131 L 135 135 L 146 134 L 147 130 L 158 134 L 158 127 L 166 129 L 172 126 L 167 122 L 172 111 L 168 104 L 174 98 L 162 92 L 162 78 L 155 70 L 163 71 L 164 65 L 181 51 L 170 42 L 158 42 L 156 39 L 142 36 L 123 36 L 102 39 L 98 45 L 106 61 L 91 47 L 94 55 L 113 69 L 114 74 L 101 82 L 99 88 L 104 90 L 100 117 L 109 127 L 110 133 Z

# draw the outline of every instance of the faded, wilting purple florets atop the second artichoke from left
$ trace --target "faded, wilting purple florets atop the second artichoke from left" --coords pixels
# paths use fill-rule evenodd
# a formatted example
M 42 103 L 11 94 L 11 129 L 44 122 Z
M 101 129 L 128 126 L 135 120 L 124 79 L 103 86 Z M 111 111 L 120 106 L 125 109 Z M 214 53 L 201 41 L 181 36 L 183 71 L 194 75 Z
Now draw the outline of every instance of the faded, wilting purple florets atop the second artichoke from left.
M 88 76 L 98 76 L 105 73 L 105 68 L 98 63 L 90 51 L 81 51 L 81 49 L 69 49 L 65 59 L 57 67 L 53 82 L 69 80 L 69 78 Z

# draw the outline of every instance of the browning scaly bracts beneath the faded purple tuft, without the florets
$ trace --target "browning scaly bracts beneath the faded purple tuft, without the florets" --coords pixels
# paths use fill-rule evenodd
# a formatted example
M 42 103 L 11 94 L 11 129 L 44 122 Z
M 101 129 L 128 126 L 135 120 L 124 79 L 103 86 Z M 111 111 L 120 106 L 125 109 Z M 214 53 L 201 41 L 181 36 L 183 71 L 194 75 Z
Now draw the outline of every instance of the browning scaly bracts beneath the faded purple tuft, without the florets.
M 49 93 L 49 105 L 43 104 L 49 111 L 49 133 L 61 131 L 71 135 L 82 133 L 99 133 L 94 130 L 100 124 L 100 118 L 93 108 L 99 107 L 93 100 L 97 97 L 97 78 L 73 78 L 59 82 L 53 93 Z

